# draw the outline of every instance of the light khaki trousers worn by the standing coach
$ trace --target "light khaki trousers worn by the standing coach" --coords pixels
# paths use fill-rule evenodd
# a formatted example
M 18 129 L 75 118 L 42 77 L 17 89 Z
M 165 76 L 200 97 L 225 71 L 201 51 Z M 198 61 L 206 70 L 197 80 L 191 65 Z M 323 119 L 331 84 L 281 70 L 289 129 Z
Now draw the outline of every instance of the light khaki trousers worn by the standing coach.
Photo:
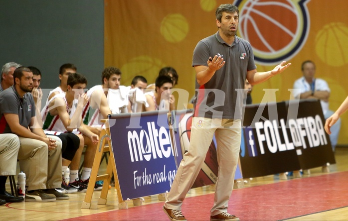
M 182 201 L 192 187 L 204 162 L 213 135 L 217 142 L 218 177 L 211 216 L 227 212 L 237 168 L 241 122 L 233 119 L 193 117 L 190 146 L 183 156 L 165 203 L 168 209 L 181 210 Z

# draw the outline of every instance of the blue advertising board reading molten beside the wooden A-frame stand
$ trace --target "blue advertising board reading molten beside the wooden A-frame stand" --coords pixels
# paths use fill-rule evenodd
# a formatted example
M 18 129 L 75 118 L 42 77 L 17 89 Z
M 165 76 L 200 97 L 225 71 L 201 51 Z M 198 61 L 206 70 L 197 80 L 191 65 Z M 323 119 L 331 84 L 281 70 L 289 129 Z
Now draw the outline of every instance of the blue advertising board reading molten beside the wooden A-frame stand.
M 165 193 L 176 174 L 167 111 L 109 115 L 122 200 Z M 174 154 L 175 153 L 175 154 Z

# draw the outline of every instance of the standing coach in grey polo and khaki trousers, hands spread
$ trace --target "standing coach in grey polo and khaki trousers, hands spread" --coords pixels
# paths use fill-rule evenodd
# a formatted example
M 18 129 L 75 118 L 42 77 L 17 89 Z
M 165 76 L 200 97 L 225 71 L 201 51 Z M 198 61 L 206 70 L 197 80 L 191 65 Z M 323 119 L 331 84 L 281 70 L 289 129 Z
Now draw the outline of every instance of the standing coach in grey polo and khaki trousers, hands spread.
M 251 85 L 259 84 L 291 65 L 283 66 L 286 63 L 283 61 L 272 71 L 257 72 L 250 43 L 236 36 L 238 8 L 232 4 L 221 4 L 215 14 L 218 31 L 199 41 L 193 51 L 196 100 L 190 146 L 180 162 L 163 207 L 172 221 L 185 220 L 181 213 L 182 201 L 198 175 L 214 133 L 219 170 L 210 220 L 239 220 L 230 215 L 227 208 L 241 142 L 245 79 Z

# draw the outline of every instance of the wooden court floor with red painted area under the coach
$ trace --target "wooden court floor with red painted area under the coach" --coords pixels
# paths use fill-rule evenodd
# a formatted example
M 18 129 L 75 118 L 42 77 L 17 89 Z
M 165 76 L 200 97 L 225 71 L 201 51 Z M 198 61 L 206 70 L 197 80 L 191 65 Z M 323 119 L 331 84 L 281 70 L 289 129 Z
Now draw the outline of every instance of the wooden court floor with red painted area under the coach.
M 330 173 L 311 169 L 311 175 L 287 181 L 278 176 L 257 177 L 234 189 L 228 211 L 241 221 L 345 221 L 348 220 L 348 147 L 336 148 L 337 164 Z M 105 163 L 103 164 L 105 167 Z M 102 170 L 102 169 L 101 169 Z M 103 172 L 103 171 L 101 171 Z M 9 183 L 6 186 L 10 191 Z M 213 202 L 211 187 L 191 189 L 182 206 L 188 220 L 208 221 Z M 0 206 L 0 220 L 140 220 L 166 221 L 163 201 L 144 197 L 143 206 L 119 210 L 115 189 L 107 205 L 97 205 L 100 191 L 94 191 L 91 209 L 81 209 L 85 193 L 69 194 L 70 200 L 52 203 L 7 203 Z

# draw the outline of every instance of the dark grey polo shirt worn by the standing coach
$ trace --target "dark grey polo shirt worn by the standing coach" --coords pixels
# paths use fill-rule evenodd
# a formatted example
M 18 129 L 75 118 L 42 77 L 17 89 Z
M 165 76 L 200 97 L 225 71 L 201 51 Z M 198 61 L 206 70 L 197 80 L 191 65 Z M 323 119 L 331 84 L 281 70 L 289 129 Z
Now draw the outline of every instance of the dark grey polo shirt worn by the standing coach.
M 256 69 L 253 50 L 249 42 L 237 36 L 229 46 L 216 32 L 198 42 L 192 66 L 208 66 L 209 56 L 216 54 L 223 56 L 226 63 L 206 84 L 200 86 L 196 79 L 194 116 L 241 119 L 246 73 Z

